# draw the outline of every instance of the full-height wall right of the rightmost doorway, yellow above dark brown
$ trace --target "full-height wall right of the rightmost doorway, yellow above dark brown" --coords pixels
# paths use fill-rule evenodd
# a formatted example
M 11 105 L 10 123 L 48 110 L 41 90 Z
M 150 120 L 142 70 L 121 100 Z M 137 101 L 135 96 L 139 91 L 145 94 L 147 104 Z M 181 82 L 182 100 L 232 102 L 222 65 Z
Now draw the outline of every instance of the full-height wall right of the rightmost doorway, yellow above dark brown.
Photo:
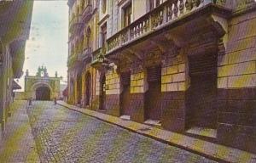
M 230 20 L 218 56 L 218 141 L 256 152 L 256 12 Z

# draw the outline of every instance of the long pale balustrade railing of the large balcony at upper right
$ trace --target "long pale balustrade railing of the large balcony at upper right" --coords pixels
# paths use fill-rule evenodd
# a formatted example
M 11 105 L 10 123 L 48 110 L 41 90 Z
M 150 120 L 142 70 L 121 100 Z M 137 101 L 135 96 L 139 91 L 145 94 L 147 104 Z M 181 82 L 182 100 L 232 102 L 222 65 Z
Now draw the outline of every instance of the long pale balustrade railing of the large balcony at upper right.
M 166 24 L 182 19 L 184 15 L 201 8 L 212 0 L 167 0 L 157 8 L 144 14 L 121 31 L 108 38 L 108 53 L 129 42 L 137 40 L 150 32 L 158 30 Z

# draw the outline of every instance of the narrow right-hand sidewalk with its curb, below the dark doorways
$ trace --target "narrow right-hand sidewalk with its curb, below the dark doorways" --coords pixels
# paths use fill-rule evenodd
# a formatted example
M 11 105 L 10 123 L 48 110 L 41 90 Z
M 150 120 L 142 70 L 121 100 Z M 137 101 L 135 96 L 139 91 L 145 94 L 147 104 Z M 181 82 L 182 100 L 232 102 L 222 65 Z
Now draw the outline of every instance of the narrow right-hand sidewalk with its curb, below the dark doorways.
M 169 132 L 157 127 L 137 123 L 135 121 L 122 120 L 119 117 L 102 114 L 93 110 L 79 108 L 77 106 L 67 104 L 63 101 L 58 101 L 57 103 L 68 109 L 79 111 L 80 113 L 90 115 L 92 117 L 95 117 L 96 119 L 120 126 L 131 132 L 137 132 L 146 137 L 154 138 L 155 140 L 158 140 L 160 142 L 168 143 L 181 149 L 189 150 L 190 152 L 205 156 L 212 160 L 217 160 L 221 162 L 256 162 L 256 155 L 242 151 L 240 149 L 233 149 L 224 145 L 207 142 L 198 138 L 191 138 L 183 134 Z

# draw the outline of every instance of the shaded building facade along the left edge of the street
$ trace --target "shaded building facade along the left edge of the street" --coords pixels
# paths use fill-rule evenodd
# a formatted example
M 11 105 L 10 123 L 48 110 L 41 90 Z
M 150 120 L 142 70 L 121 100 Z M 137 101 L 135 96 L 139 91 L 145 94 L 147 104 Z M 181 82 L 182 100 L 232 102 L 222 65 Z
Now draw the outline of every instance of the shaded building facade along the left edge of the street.
M 22 76 L 32 6 L 33 0 L 0 1 L 0 132 L 11 115 L 14 79 Z

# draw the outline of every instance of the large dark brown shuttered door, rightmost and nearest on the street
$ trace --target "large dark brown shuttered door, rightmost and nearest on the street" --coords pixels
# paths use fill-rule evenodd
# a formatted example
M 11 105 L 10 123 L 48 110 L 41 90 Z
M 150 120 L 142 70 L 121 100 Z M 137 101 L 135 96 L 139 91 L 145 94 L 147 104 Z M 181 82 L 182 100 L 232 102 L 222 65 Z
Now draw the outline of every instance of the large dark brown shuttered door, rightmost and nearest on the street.
M 191 126 L 217 127 L 217 58 L 202 55 L 189 59 L 189 109 Z

